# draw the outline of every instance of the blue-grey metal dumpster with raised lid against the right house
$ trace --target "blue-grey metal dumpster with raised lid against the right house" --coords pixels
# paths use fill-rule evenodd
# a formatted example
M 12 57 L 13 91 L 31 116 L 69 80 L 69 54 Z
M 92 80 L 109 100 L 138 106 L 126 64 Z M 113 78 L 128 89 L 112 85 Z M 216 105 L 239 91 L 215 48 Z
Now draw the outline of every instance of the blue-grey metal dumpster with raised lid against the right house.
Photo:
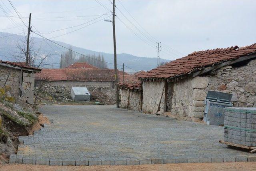
M 204 109 L 204 121 L 210 125 L 224 125 L 225 107 L 233 107 L 230 100 L 232 94 L 218 91 L 208 91 Z

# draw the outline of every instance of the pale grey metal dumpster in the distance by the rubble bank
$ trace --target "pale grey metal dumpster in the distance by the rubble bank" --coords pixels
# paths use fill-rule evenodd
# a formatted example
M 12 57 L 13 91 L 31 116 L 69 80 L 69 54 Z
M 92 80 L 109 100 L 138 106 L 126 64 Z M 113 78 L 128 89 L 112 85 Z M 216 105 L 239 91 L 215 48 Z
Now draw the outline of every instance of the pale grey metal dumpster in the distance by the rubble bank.
M 86 87 L 71 87 L 70 95 L 73 101 L 90 101 L 90 93 Z

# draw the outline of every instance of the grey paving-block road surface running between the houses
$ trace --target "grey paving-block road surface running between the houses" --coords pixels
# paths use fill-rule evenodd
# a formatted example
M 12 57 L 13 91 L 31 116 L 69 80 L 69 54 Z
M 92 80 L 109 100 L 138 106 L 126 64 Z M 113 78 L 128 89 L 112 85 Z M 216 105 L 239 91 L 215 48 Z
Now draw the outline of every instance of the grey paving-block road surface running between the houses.
M 138 165 L 256 161 L 218 141 L 224 128 L 104 105 L 48 105 L 52 122 L 23 142 L 10 163 Z

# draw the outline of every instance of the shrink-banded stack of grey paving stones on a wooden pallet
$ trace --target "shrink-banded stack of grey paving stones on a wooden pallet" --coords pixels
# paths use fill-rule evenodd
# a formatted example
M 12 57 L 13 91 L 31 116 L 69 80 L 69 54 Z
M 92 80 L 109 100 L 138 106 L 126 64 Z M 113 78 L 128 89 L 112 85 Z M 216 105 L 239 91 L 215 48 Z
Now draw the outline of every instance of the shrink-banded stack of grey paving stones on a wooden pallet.
M 224 141 L 256 146 L 256 107 L 226 107 Z

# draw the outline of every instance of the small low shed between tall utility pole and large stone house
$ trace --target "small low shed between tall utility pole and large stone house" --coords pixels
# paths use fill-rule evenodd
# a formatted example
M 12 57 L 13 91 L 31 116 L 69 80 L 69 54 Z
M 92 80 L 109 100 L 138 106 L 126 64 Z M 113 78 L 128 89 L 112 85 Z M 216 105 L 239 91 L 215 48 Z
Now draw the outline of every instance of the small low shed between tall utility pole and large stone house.
M 134 74 L 124 76 L 118 83 L 120 89 L 120 107 L 124 109 L 142 110 L 142 86 Z

